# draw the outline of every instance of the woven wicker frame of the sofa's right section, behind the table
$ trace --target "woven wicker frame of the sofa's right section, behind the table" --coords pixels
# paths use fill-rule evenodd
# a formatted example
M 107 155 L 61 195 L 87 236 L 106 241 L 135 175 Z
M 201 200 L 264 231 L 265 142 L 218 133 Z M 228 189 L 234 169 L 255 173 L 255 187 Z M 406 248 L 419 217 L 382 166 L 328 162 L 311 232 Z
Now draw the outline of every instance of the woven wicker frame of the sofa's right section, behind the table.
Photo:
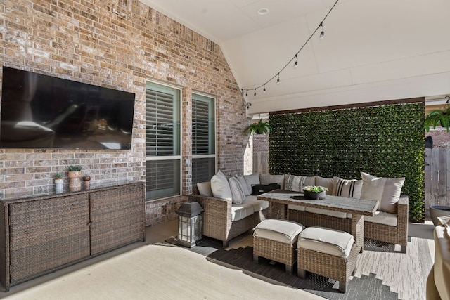
M 409 198 L 402 195 L 397 202 L 397 226 L 388 226 L 370 221 L 364 222 L 364 238 L 378 240 L 390 244 L 399 244 L 400 252 L 406 253 L 408 244 L 408 211 Z M 271 211 L 271 216 L 280 214 L 278 211 Z M 352 226 L 352 219 L 338 218 L 335 216 L 326 216 L 323 214 L 314 214 L 308 211 L 289 210 L 290 221 L 302 223 L 304 226 L 323 226 L 327 224 L 328 228 L 336 230 L 349 231 Z

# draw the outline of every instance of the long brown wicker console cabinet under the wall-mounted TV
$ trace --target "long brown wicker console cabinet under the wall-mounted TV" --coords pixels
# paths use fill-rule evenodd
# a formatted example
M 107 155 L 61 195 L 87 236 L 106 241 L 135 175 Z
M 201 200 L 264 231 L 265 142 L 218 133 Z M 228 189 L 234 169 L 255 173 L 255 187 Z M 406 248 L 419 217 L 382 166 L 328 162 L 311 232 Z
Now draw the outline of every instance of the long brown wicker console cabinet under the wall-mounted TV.
M 0 200 L 0 282 L 12 285 L 145 240 L 142 182 Z

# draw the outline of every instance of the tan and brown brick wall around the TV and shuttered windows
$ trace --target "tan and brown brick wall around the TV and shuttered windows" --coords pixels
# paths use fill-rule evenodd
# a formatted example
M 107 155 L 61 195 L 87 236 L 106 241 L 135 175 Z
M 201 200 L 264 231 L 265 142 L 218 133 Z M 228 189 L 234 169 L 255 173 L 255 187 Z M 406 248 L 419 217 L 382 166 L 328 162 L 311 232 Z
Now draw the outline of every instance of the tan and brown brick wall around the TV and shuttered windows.
M 53 176 L 82 164 L 93 181 L 145 181 L 147 79 L 183 89 L 183 193 L 191 193 L 191 92 L 217 97 L 217 165 L 243 171 L 250 124 L 217 44 L 138 0 L 0 2 L 0 65 L 136 93 L 130 151 L 0 149 L 0 193 L 53 189 Z M 1 74 L 0 74 L 1 78 Z M 149 203 L 147 224 L 174 219 L 184 197 Z

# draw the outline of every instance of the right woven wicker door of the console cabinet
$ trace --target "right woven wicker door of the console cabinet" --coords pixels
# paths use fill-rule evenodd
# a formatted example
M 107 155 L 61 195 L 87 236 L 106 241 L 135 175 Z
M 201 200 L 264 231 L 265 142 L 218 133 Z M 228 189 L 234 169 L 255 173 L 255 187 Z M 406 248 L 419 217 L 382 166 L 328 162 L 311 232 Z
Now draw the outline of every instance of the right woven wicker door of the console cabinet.
M 143 184 L 90 193 L 91 255 L 144 240 Z

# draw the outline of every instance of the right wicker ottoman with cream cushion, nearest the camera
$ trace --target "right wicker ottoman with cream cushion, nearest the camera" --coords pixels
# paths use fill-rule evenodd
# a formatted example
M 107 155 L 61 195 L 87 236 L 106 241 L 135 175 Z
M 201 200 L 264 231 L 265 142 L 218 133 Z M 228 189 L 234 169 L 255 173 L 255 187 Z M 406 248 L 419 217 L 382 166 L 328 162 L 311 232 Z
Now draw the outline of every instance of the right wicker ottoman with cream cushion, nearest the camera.
M 339 281 L 340 292 L 356 268 L 359 253 L 354 237 L 344 231 L 322 227 L 308 227 L 300 233 L 297 242 L 297 274 L 305 271 Z

